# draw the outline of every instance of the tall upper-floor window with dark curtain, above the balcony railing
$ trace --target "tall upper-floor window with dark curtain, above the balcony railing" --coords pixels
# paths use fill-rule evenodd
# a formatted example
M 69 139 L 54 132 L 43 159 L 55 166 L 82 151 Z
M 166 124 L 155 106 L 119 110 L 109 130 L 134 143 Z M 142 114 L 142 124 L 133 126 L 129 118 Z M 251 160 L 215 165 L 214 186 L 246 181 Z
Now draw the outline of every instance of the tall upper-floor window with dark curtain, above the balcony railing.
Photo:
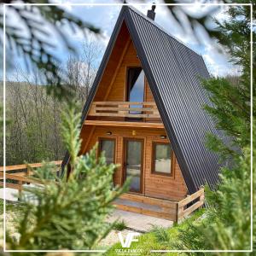
M 142 67 L 130 67 L 127 77 L 127 101 L 144 101 L 144 72 Z

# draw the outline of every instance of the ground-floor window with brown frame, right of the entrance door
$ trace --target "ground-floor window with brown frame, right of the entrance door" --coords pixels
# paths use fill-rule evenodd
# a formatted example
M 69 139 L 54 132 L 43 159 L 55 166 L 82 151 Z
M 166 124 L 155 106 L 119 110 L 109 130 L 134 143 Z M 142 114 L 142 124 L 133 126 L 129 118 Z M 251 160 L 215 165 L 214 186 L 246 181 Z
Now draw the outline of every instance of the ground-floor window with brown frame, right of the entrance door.
M 172 175 L 172 147 L 170 143 L 154 143 L 153 172 Z

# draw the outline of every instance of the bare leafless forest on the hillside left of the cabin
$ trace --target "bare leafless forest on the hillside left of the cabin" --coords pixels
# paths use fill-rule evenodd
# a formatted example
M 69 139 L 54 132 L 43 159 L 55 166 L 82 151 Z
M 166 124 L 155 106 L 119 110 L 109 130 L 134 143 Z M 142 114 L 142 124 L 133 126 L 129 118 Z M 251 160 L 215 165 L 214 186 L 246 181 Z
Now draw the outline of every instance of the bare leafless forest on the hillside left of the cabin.
M 62 78 L 79 109 L 89 94 L 101 52 L 102 46 L 89 38 L 81 44 L 79 54 L 70 56 L 61 67 Z M 38 70 L 29 75 L 26 69 L 16 66 L 7 80 L 6 164 L 62 160 L 65 149 L 60 125 L 66 102 L 47 93 L 47 85 L 42 84 L 44 74 Z M 3 150 L 3 144 L 0 147 Z

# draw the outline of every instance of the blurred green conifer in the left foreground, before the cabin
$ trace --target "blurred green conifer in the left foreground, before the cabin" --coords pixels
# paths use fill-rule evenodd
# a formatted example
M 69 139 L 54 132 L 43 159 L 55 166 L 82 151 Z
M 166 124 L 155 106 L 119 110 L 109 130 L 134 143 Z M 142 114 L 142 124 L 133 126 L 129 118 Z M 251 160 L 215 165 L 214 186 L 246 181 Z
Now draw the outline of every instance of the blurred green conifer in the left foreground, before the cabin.
M 125 187 L 113 189 L 116 166 L 107 165 L 103 154 L 97 159 L 96 147 L 79 156 L 79 118 L 75 108 L 64 110 L 62 135 L 72 172 L 67 178 L 67 168 L 62 177 L 55 166 L 38 169 L 33 178 L 41 185 L 23 192 L 20 239 L 9 236 L 9 249 L 90 249 L 112 229 L 106 218 Z

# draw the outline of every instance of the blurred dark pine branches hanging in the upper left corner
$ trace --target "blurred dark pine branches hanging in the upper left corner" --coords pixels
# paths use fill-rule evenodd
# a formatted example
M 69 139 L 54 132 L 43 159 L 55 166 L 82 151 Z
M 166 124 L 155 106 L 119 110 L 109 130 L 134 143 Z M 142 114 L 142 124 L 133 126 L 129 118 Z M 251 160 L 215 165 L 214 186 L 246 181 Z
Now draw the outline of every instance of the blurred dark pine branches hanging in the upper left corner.
M 14 1 L 15 2 L 15 1 Z M 13 3 L 9 1 L 9 3 Z M 38 3 L 38 1 L 26 1 L 26 3 Z M 41 1 L 41 3 L 49 3 L 49 1 Z M 3 11 L 3 9 L 2 9 Z M 20 24 L 23 24 L 23 30 L 19 25 L 12 25 L 9 20 L 9 12 L 15 14 Z M 100 34 L 99 28 L 88 22 L 77 18 L 75 15 L 67 13 L 58 6 L 22 6 L 9 5 L 6 7 L 6 38 L 7 51 L 15 51 L 26 63 L 29 71 L 33 67 L 37 67 L 44 73 L 44 83 L 49 84 L 48 92 L 58 98 L 69 100 L 73 93 L 69 87 L 65 85 L 59 67 L 60 60 L 55 55 L 57 44 L 54 42 L 53 35 L 61 38 L 61 43 L 67 51 L 76 53 L 73 44 L 67 38 L 67 34 L 63 32 L 63 26 L 67 25 L 73 31 L 81 31 L 86 36 L 86 32 Z M 0 24 L 3 30 L 3 13 L 0 14 Z M 45 29 L 51 26 L 52 33 Z M 27 35 L 26 35 L 27 33 Z M 1 42 L 3 44 L 3 42 Z M 55 85 L 55 86 L 54 86 Z

